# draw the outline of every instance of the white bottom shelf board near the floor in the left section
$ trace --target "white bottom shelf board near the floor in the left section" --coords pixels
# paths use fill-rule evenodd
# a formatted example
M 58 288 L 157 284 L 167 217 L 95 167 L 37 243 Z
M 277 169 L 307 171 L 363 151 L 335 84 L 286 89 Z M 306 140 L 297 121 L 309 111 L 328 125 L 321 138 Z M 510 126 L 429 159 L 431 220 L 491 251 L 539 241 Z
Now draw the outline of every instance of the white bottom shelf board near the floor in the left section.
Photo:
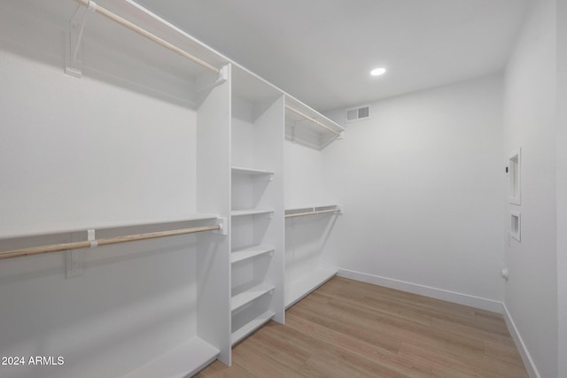
M 193 337 L 157 359 L 153 359 L 124 378 L 183 378 L 196 374 L 219 355 L 219 350 L 199 337 Z

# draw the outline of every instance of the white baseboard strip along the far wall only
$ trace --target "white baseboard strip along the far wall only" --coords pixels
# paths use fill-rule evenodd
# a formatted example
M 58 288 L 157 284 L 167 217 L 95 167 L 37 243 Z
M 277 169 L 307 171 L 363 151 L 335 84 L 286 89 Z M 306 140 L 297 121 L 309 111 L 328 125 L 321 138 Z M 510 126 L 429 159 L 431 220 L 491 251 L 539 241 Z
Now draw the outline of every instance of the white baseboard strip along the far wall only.
M 445 289 L 432 288 L 431 286 L 420 285 L 412 282 L 394 280 L 392 278 L 381 277 L 374 274 L 354 272 L 346 269 L 338 269 L 339 277 L 350 278 L 355 281 L 372 283 L 390 289 L 407 291 L 408 293 L 419 294 L 425 297 L 432 297 L 459 305 L 469 305 L 486 311 L 502 312 L 502 302 L 483 297 L 470 296 L 468 294 L 457 293 Z

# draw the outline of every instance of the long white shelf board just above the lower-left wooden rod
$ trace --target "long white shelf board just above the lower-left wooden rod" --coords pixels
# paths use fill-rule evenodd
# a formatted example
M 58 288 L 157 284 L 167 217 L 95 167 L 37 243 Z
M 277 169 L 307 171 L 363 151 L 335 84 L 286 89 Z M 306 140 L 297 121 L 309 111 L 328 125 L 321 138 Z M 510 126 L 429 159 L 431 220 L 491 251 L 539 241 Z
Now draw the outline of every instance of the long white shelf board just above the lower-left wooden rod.
M 136 227 L 136 226 L 149 226 L 158 225 L 162 223 L 175 223 L 193 220 L 215 220 L 219 218 L 218 214 L 206 213 L 187 213 L 176 217 L 169 218 L 152 218 L 146 220 L 99 220 L 99 221 L 82 221 L 63 223 L 53 222 L 48 224 L 38 225 L 37 227 L 19 228 L 3 230 L 0 233 L 0 239 L 10 239 L 16 237 L 39 236 L 50 234 L 66 234 L 72 232 L 82 232 L 88 229 L 106 229 L 106 228 L 122 228 L 122 227 Z

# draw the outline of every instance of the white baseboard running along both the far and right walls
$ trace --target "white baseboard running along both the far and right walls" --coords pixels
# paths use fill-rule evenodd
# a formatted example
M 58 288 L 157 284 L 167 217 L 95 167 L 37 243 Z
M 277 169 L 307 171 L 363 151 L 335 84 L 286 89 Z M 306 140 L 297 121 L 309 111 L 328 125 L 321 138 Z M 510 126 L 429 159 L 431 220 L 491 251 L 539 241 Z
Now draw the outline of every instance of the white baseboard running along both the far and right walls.
M 512 320 L 512 317 L 508 312 L 508 308 L 503 302 L 483 297 L 470 296 L 468 294 L 457 293 L 445 289 L 432 288 L 431 286 L 420 285 L 417 283 L 394 280 L 392 278 L 381 277 L 378 275 L 354 272 L 346 269 L 338 269 L 337 275 L 339 277 L 350 278 L 355 281 L 384 286 L 385 288 L 398 289 L 408 293 L 419 294 L 424 297 L 431 297 L 459 305 L 468 305 L 470 307 L 486 311 L 501 313 L 506 321 L 509 333 L 514 339 L 514 343 L 516 343 L 517 350 L 520 352 L 520 356 L 524 361 L 524 366 L 528 374 L 530 374 L 531 378 L 541 378 L 538 369 L 533 363 L 532 355 L 527 350 L 524 340 L 522 340 L 522 336 L 520 336 L 520 333 L 516 328 L 516 324 L 514 323 L 514 320 Z

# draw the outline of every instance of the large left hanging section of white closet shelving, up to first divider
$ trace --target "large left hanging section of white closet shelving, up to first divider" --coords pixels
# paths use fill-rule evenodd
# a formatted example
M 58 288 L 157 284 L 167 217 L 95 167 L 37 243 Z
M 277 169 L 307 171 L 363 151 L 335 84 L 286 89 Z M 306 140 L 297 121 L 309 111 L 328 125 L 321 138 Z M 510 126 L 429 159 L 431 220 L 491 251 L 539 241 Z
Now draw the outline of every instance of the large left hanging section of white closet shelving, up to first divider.
M 223 75 L 229 60 L 132 1 L 98 6 L 219 72 L 85 12 L 74 1 L 0 4 L 3 77 L 26 77 L 27 89 L 50 97 L 36 105 L 14 92 L 10 101 L 27 106 L 25 114 L 2 104 L 12 108 L 0 115 L 10 130 L 4 141 L 17 150 L 25 142 L 44 157 L 32 169 L 19 166 L 27 164 L 25 159 L 12 162 L 12 168 L 26 180 L 45 179 L 29 186 L 12 180 L 13 189 L 3 189 L 0 207 L 5 209 L 7 203 L 19 203 L 16 196 L 28 187 L 26 203 L 15 209 L 21 219 L 11 216 L 8 227 L 0 221 L 0 251 L 57 243 L 85 229 L 96 229 L 97 238 L 104 238 L 230 218 L 230 92 Z M 68 51 L 75 48 L 72 62 Z M 21 83 L 3 81 L 4 89 Z M 19 119 L 25 127 L 19 127 Z M 39 125 L 50 132 L 41 134 Z M 33 204 L 38 198 L 43 198 L 41 206 Z M 30 206 L 35 211 L 28 214 Z M 122 233 L 125 228 L 132 232 Z M 41 373 L 25 366 L 30 370 L 17 374 L 184 377 L 214 359 L 230 364 L 229 235 L 207 232 L 70 252 L 86 261 L 81 276 L 61 274 L 67 252 L 3 261 L 3 280 L 8 266 L 12 274 L 36 276 L 13 288 L 3 285 L 3 297 L 33 284 L 49 291 L 53 301 L 38 297 L 42 290 L 37 289 L 21 305 L 3 306 L 0 318 L 10 330 L 3 340 L 13 344 L 0 349 L 28 343 L 29 348 L 18 350 L 66 357 L 64 366 Z M 29 324 L 19 324 L 16 308 L 29 314 L 33 333 Z M 55 337 L 49 334 L 53 329 L 58 330 Z M 41 342 L 47 338 L 49 343 Z M 97 366 L 96 371 L 89 372 L 89 366 Z

